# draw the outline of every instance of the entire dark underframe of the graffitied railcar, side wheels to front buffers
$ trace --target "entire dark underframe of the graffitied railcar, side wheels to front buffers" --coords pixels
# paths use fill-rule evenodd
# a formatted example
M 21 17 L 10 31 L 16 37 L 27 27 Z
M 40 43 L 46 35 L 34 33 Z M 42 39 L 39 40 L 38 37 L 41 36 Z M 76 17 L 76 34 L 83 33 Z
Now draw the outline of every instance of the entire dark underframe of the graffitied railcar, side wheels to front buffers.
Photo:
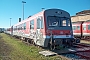
M 17 35 L 13 35 L 13 36 L 29 44 L 40 46 L 35 43 L 34 39 L 17 36 Z M 74 39 L 74 38 L 53 38 L 51 37 L 51 38 L 45 38 L 43 46 L 40 46 L 40 47 L 45 47 L 45 48 L 49 48 L 50 50 L 54 50 L 54 49 L 61 49 L 61 48 L 69 48 L 69 47 L 72 47 L 76 43 L 80 43 L 80 40 Z

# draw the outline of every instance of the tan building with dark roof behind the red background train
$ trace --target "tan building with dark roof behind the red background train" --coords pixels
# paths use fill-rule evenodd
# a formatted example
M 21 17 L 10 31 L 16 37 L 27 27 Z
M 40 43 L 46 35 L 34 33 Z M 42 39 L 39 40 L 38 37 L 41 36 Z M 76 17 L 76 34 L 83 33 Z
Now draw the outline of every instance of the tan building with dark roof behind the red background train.
M 72 22 L 90 20 L 90 10 L 84 10 L 76 13 L 75 16 L 71 16 L 71 20 Z

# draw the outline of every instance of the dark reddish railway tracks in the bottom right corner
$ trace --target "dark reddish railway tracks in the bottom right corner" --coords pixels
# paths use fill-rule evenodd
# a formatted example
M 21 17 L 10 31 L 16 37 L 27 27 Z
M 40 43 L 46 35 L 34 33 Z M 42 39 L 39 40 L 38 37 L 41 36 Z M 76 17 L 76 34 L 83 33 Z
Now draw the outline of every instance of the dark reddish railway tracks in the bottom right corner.
M 90 45 L 85 43 L 75 44 L 76 52 L 61 54 L 70 59 L 90 60 Z

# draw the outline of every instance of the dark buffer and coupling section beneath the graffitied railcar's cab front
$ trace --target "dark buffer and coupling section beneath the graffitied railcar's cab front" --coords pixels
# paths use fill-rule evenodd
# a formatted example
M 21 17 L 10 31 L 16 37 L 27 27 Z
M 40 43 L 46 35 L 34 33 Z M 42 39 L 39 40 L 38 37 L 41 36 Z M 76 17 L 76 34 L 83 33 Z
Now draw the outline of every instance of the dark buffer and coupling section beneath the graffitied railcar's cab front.
M 49 45 L 48 47 L 53 49 L 61 49 L 61 48 L 70 48 L 74 44 L 80 43 L 79 39 L 74 38 L 51 38 L 49 39 Z

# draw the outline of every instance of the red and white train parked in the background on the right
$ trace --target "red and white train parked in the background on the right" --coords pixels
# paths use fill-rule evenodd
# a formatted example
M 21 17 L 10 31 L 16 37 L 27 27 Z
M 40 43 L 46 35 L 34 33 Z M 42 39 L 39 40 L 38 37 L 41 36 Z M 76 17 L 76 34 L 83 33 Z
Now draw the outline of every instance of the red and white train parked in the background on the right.
M 90 39 L 90 20 L 72 23 L 73 35 L 79 39 Z

